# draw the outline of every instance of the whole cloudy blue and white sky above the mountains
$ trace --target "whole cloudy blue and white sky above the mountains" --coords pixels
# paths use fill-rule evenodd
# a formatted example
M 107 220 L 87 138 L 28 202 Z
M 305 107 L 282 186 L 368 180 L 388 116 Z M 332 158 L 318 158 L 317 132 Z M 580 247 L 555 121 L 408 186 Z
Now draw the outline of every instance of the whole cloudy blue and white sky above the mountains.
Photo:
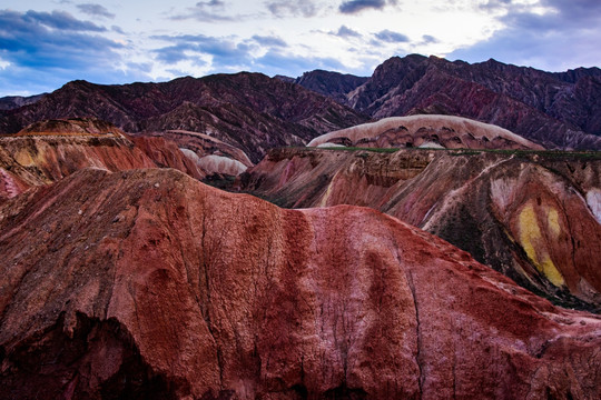
M 600 0 L 2 0 L 0 97 L 238 71 L 368 77 L 420 53 L 601 67 Z

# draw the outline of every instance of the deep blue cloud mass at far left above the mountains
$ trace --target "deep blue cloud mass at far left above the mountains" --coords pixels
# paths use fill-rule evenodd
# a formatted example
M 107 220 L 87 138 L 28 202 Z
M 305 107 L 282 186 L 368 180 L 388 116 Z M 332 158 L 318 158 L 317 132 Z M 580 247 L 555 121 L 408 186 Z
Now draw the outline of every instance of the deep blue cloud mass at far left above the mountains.
M 121 61 L 124 46 L 99 33 L 104 27 L 66 12 L 0 10 L 0 70 L 4 93 L 30 93 L 58 88 L 73 79 L 95 82 L 148 78 Z

